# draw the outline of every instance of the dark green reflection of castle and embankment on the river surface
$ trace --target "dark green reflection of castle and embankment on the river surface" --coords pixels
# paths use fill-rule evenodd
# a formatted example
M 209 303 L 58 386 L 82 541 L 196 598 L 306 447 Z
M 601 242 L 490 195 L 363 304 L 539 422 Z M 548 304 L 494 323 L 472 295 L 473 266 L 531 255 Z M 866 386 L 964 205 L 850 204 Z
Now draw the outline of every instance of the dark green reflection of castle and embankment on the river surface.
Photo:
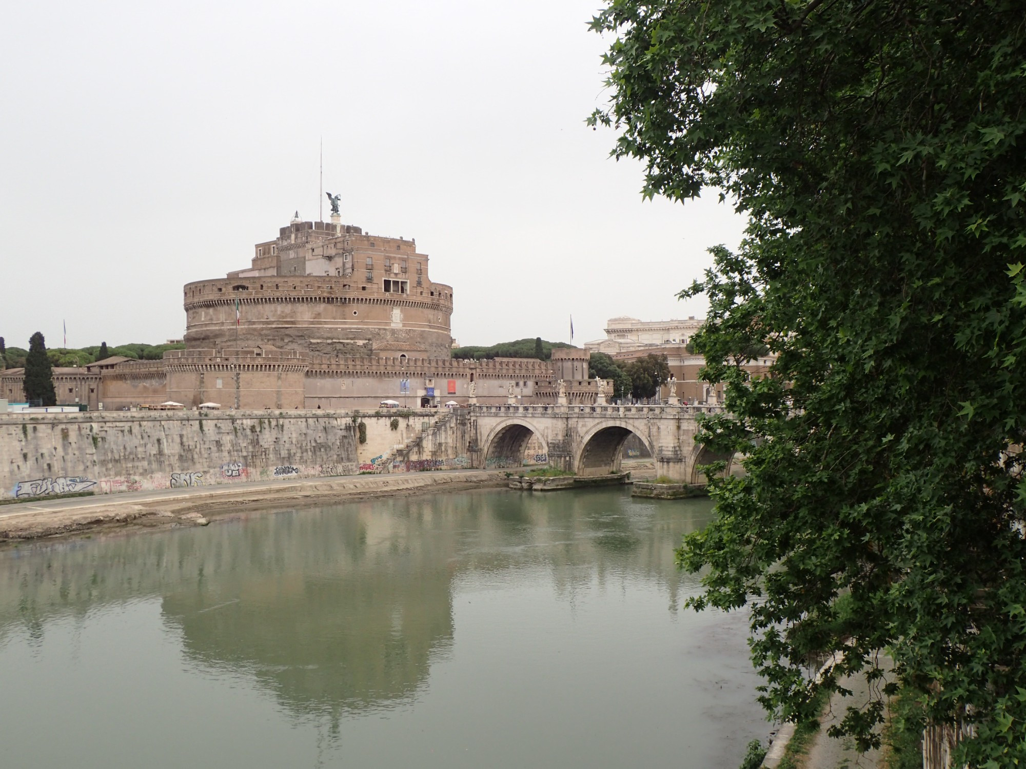
M 0 554 L 0 664 L 5 641 L 38 646 L 51 622 L 156 599 L 190 666 L 241 675 L 336 733 L 343 718 L 417 706 L 431 667 L 452 658 L 461 592 L 547 583 L 573 605 L 635 584 L 672 614 L 695 589 L 673 548 L 709 515 L 707 500 L 620 491 L 482 491 L 23 547 Z M 516 610 L 544 632 L 529 603 Z

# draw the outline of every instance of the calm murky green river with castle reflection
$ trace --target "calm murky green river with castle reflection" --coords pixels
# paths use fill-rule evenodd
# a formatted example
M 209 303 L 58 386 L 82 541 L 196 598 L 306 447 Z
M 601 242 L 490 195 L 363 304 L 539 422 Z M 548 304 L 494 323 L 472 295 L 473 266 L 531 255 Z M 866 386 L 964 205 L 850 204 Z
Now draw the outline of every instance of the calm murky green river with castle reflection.
M 736 769 L 708 500 L 482 490 L 0 553 L 0 765 Z

